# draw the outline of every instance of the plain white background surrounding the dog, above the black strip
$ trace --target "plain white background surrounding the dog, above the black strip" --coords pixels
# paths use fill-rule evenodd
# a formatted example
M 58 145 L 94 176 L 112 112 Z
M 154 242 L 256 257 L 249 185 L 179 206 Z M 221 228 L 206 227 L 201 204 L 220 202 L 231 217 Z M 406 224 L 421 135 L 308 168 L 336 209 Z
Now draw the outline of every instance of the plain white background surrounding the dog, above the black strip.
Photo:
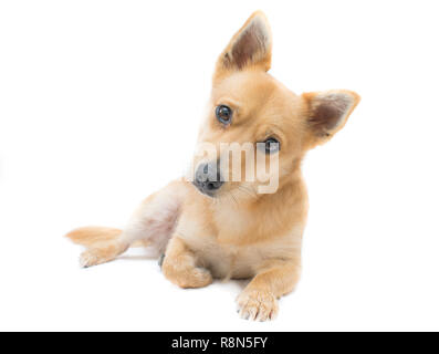
M 185 291 L 135 250 L 80 269 L 62 236 L 121 227 L 191 156 L 217 55 L 262 9 L 271 73 L 351 88 L 304 162 L 303 275 L 276 321 L 243 283 Z M 436 1 L 2 1 L 0 330 L 439 330 Z

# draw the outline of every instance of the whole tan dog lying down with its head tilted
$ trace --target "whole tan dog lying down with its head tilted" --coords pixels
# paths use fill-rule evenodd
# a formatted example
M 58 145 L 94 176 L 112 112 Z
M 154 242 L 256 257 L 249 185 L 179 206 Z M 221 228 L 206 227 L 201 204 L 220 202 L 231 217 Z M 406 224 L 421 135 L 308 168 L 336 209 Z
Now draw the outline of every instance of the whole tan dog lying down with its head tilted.
M 278 157 L 275 192 L 260 194 L 259 180 L 216 179 L 226 174 L 219 165 L 223 155 L 198 156 L 194 181 L 175 180 L 148 197 L 124 230 L 92 227 L 69 233 L 87 247 L 83 267 L 108 262 L 143 242 L 165 252 L 163 272 L 173 283 L 201 288 L 212 278 L 251 278 L 237 300 L 241 316 L 264 321 L 276 315 L 278 299 L 294 289 L 301 273 L 307 214 L 301 162 L 345 125 L 359 96 L 344 90 L 295 95 L 266 73 L 271 49 L 266 19 L 255 12 L 217 62 L 199 142 L 262 143 L 265 148 L 258 147 L 257 156 Z M 212 166 L 219 166 L 213 175 Z

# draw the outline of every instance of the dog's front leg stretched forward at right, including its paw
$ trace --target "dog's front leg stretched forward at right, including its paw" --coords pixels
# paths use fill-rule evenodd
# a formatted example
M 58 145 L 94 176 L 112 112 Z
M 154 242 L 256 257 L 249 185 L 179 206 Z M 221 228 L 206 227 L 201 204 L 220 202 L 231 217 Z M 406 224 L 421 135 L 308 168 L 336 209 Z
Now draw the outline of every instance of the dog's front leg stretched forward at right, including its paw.
M 278 299 L 290 293 L 300 278 L 300 259 L 266 262 L 237 299 L 242 319 L 273 320 Z

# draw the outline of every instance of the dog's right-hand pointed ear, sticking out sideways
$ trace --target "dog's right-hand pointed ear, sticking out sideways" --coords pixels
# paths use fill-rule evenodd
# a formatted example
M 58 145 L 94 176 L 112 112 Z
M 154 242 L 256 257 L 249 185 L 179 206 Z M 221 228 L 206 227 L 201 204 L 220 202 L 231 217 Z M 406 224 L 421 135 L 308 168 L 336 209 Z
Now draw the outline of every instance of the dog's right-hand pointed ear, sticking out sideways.
M 347 90 L 310 92 L 302 97 L 312 145 L 328 140 L 343 128 L 359 102 L 359 95 Z

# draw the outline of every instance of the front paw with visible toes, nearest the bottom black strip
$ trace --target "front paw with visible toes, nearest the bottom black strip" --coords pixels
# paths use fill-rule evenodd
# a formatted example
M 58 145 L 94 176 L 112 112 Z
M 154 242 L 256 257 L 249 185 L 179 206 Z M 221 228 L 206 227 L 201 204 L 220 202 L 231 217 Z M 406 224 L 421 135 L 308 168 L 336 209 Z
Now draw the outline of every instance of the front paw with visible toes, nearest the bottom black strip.
M 274 320 L 279 312 L 278 299 L 264 290 L 244 290 L 238 296 L 237 303 L 238 312 L 244 320 Z

